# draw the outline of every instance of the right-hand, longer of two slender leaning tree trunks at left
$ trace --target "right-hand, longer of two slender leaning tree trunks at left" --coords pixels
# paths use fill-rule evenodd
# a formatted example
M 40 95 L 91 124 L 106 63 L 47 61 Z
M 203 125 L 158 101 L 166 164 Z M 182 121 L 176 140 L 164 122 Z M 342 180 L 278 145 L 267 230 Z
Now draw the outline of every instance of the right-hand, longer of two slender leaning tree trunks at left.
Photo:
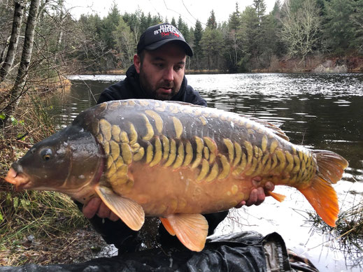
M 5 125 L 8 117 L 13 114 L 18 103 L 18 99 L 22 95 L 22 89 L 24 87 L 25 80 L 27 79 L 27 73 L 29 69 L 31 52 L 33 51 L 34 34 L 36 28 L 36 22 L 38 19 L 40 0 L 31 0 L 29 8 L 29 16 L 27 20 L 27 28 L 25 29 L 24 46 L 22 49 L 22 59 L 20 60 L 20 66 L 17 70 L 17 76 L 15 78 L 15 84 L 10 91 L 10 101 L 8 106 L 3 110 L 5 113 L 5 119 L 0 120 L 0 125 Z

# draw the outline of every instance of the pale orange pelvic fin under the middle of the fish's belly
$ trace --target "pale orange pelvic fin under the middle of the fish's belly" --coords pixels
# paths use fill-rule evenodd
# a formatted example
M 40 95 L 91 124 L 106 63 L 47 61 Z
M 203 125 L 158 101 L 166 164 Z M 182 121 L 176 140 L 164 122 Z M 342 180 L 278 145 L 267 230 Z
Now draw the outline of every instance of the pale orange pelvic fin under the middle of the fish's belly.
M 177 213 L 160 220 L 169 234 L 176 234 L 186 248 L 203 250 L 208 235 L 208 222 L 203 215 Z

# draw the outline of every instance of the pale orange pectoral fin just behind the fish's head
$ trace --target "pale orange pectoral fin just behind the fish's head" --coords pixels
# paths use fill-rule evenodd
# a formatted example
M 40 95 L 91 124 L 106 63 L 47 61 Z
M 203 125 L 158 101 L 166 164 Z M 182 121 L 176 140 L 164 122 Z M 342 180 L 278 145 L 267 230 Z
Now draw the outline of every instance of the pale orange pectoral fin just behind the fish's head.
M 95 191 L 106 206 L 115 215 L 118 215 L 124 224 L 127 224 L 127 227 L 134 231 L 138 231 L 143 227 L 145 213 L 143 207 L 136 203 L 136 201 L 119 196 L 112 189 L 104 186 L 96 186 Z

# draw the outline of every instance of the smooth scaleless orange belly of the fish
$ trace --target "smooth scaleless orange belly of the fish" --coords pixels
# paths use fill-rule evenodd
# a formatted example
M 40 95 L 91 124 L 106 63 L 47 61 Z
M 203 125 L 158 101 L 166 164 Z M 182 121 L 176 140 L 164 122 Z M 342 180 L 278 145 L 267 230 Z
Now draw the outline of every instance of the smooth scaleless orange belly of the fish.
M 250 179 L 197 181 L 197 169 L 167 169 L 141 163 L 129 167 L 134 185 L 113 187 L 115 192 L 141 204 L 146 215 L 166 216 L 173 213 L 214 213 L 236 206 L 248 199 Z M 126 191 L 126 192 L 125 192 Z

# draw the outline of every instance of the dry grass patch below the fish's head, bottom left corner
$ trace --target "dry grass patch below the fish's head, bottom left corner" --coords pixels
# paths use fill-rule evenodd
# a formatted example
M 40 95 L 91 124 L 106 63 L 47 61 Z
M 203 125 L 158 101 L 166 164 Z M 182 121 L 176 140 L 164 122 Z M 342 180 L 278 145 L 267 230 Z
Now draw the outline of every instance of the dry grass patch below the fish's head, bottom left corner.
M 20 265 L 31 259 L 42 262 L 38 259 L 42 255 L 29 252 L 31 248 L 38 248 L 34 241 L 42 241 L 48 248 L 58 241 L 55 252 L 61 253 L 66 248 L 59 248 L 62 244 L 59 239 L 67 241 L 71 232 L 87 227 L 85 217 L 68 196 L 57 192 L 14 192 L 12 187 L 0 185 L 3 217 L 0 222 L 0 265 Z

